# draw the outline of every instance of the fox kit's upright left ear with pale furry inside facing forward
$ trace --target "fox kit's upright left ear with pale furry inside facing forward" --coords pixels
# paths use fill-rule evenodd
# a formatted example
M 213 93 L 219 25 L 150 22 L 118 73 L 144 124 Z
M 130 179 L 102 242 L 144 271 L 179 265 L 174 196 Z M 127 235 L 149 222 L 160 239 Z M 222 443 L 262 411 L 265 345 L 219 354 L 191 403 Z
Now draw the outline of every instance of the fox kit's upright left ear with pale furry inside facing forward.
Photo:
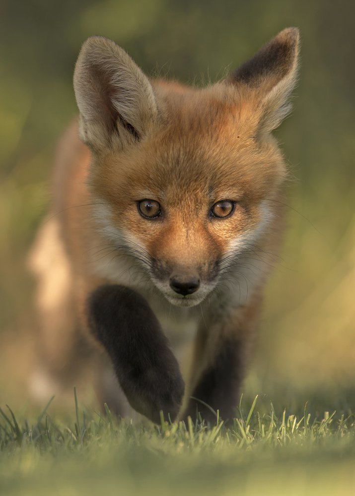
M 157 118 L 148 78 L 113 41 L 88 38 L 74 70 L 79 135 L 92 150 L 141 139 Z

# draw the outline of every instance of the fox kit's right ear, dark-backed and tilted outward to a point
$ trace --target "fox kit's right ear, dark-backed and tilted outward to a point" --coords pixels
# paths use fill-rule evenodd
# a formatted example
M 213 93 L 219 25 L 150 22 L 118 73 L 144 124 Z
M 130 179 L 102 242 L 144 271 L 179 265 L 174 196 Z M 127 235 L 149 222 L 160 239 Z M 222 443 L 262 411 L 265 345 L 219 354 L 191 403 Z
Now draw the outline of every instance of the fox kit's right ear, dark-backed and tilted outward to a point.
M 275 129 L 291 110 L 288 99 L 297 79 L 298 46 L 298 29 L 286 28 L 226 79 L 256 103 L 260 131 Z

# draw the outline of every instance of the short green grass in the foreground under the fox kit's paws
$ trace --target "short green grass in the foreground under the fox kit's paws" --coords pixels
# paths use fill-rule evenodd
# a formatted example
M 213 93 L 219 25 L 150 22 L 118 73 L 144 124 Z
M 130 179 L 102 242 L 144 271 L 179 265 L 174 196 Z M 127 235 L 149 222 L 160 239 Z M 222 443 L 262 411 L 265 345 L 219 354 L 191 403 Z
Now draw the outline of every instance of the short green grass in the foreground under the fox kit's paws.
M 69 418 L 53 420 L 48 404 L 33 424 L 0 410 L 1 495 L 354 494 L 354 413 L 259 413 L 255 398 L 228 428 L 154 426 L 74 400 Z

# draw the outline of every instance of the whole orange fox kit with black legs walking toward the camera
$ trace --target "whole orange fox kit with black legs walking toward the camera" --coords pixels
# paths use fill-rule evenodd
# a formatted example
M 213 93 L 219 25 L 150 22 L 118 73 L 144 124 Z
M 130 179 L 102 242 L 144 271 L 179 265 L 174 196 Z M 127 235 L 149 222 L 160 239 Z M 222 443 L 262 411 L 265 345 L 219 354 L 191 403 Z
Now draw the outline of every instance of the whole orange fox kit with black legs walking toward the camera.
M 105 38 L 83 44 L 79 119 L 31 257 L 49 376 L 70 376 L 83 342 L 100 376 L 96 341 L 153 422 L 160 410 L 233 418 L 282 230 L 286 171 L 271 131 L 290 109 L 297 52 L 298 30 L 284 29 L 200 89 L 148 78 Z M 186 328 L 185 387 L 172 345 Z M 114 396 L 104 380 L 98 389 Z

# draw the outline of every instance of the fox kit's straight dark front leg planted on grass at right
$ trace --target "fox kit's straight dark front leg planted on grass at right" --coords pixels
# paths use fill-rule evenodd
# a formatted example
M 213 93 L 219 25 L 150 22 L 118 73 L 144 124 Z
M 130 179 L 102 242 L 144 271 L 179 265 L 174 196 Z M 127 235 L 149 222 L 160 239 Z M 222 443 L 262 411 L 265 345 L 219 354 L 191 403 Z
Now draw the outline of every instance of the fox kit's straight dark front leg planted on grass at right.
M 201 323 L 195 341 L 190 399 L 183 416 L 215 422 L 211 408 L 224 421 L 235 417 L 239 389 L 252 351 L 260 308 L 259 297 L 223 319 L 210 315 Z M 214 320 L 214 322 L 213 322 Z M 209 405 L 208 408 L 205 404 Z

